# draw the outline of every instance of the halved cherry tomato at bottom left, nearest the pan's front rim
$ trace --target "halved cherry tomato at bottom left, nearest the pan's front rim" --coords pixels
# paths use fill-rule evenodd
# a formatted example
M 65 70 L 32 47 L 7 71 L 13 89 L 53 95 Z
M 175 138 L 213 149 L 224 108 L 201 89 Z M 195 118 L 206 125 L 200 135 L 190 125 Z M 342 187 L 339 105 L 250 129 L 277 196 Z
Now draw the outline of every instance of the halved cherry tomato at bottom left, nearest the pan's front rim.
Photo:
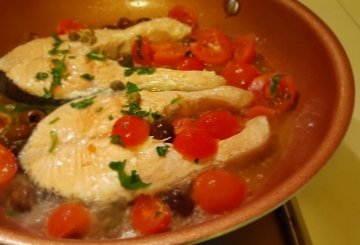
M 81 203 L 65 203 L 49 215 L 46 231 L 57 238 L 81 238 L 91 226 L 89 210 Z

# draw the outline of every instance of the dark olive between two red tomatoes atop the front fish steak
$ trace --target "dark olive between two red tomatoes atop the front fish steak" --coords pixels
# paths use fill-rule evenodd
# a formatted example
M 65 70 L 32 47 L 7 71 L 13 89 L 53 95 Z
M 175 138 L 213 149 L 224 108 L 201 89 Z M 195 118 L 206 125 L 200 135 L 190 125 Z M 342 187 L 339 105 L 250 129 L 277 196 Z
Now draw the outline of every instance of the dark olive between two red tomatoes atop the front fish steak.
M 155 120 L 150 126 L 150 135 L 157 140 L 167 139 L 166 142 L 172 142 L 174 139 L 174 126 L 165 118 Z

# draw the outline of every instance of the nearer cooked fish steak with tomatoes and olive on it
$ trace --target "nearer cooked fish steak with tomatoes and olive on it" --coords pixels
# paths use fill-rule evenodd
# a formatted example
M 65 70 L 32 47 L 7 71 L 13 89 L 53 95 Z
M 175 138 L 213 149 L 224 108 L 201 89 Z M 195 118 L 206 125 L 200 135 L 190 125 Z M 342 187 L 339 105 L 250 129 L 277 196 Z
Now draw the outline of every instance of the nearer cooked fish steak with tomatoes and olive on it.
M 140 96 L 143 110 L 165 116 L 173 116 L 174 112 L 179 116 L 189 115 L 190 110 L 181 109 L 182 105 L 196 103 L 207 103 L 209 108 L 218 103 L 219 107 L 239 111 L 253 99 L 250 92 L 230 86 L 194 92 L 140 91 Z M 270 135 L 267 119 L 254 118 L 242 132 L 220 141 L 212 159 L 195 164 L 184 159 L 171 143 L 166 143 L 169 145 L 166 156 L 159 156 L 156 147 L 165 143 L 152 137 L 136 149 L 110 143 L 113 124 L 122 116 L 120 111 L 127 104 L 125 92 L 107 91 L 86 99 L 90 101 L 87 107 L 73 108 L 72 103 L 84 101 L 75 100 L 43 119 L 19 155 L 26 174 L 40 187 L 85 202 L 130 201 L 140 193 L 167 191 L 205 169 L 261 149 Z M 207 107 L 202 105 L 201 108 Z M 150 185 L 138 190 L 122 187 L 109 163 L 124 160 L 128 175 L 135 170 Z

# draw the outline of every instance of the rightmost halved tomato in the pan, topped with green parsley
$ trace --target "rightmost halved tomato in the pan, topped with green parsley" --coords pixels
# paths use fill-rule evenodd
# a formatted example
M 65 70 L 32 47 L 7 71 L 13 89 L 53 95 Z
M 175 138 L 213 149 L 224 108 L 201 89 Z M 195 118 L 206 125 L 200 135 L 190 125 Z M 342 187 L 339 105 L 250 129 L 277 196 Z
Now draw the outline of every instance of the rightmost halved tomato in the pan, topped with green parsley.
M 255 104 L 267 106 L 277 112 L 290 110 L 296 103 L 296 88 L 286 75 L 265 74 L 255 78 L 248 86 L 255 95 Z

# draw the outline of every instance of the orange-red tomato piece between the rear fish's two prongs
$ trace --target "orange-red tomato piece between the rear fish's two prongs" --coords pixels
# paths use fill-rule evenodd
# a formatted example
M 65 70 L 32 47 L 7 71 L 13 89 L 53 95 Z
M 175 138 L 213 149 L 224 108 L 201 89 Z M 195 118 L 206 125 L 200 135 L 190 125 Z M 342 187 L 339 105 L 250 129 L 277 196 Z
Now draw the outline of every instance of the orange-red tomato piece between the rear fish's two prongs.
M 179 43 L 152 44 L 153 64 L 156 66 L 175 66 L 185 58 L 189 48 Z

